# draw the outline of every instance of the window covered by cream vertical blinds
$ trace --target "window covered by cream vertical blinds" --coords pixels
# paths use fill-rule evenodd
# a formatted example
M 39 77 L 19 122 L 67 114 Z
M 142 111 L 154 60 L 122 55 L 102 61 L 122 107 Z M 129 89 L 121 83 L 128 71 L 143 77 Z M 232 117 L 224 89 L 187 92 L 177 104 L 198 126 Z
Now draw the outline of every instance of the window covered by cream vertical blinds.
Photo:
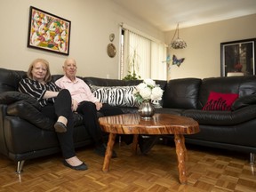
M 167 52 L 165 44 L 122 28 L 121 47 L 121 79 L 130 72 L 141 79 L 166 80 L 166 63 L 163 62 Z

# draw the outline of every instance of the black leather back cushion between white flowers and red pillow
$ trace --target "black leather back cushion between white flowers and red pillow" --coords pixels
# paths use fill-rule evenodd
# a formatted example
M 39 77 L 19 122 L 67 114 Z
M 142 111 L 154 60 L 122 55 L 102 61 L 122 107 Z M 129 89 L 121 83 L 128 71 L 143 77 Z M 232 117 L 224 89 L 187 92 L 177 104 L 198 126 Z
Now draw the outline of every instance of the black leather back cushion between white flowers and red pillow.
M 200 84 L 198 78 L 169 81 L 163 95 L 163 108 L 196 108 Z

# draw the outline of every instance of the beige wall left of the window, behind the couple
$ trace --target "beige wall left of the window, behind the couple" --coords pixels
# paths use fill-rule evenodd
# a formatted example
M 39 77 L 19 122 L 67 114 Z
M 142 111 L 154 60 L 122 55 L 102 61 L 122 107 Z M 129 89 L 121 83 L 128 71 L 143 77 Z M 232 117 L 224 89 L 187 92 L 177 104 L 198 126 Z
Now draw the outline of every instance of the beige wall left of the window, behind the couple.
M 68 56 L 27 47 L 29 6 L 71 21 L 69 57 L 77 61 L 78 76 L 118 77 L 119 55 L 108 57 L 107 45 L 108 36 L 114 33 L 118 52 L 121 22 L 164 42 L 164 32 L 111 0 L 1 0 L 0 68 L 26 71 L 32 60 L 44 58 L 50 62 L 52 74 L 62 74 L 61 66 Z

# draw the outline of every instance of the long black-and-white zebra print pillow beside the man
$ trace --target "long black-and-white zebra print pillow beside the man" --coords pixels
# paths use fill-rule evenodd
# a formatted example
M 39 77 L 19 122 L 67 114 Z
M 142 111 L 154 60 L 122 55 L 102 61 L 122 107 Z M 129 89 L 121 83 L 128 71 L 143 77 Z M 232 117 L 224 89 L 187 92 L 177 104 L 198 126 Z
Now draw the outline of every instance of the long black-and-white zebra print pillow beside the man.
M 102 103 L 117 107 L 135 107 L 132 92 L 135 86 L 96 86 L 89 84 L 94 96 Z

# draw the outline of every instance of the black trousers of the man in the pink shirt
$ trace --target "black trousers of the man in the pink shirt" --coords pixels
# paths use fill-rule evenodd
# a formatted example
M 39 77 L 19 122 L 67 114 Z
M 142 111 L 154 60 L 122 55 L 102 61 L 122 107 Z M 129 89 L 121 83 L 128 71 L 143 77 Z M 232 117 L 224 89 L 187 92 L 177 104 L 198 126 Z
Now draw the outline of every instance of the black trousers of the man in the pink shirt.
M 100 145 L 103 142 L 103 132 L 101 131 L 100 124 L 97 116 L 96 105 L 91 101 L 83 101 L 79 103 L 76 109 L 77 113 L 83 116 L 84 126 L 88 129 L 88 132 L 92 136 L 96 145 Z M 120 108 L 103 104 L 100 108 L 100 113 L 104 116 L 116 116 L 123 114 Z

